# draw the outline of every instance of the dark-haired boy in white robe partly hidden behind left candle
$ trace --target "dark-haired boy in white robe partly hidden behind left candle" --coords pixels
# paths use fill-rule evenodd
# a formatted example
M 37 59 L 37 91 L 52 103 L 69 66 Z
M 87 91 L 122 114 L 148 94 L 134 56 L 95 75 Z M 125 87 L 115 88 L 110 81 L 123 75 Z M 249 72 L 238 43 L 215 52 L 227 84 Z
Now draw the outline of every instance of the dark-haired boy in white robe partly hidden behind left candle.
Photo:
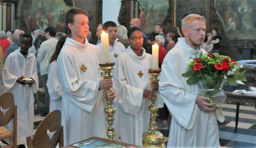
M 124 45 L 118 42 L 117 39 L 117 25 L 114 21 L 107 21 L 103 24 L 102 30 L 108 33 L 110 62 L 115 62 L 116 58 L 125 51 Z M 97 46 L 103 49 L 102 43 L 99 43 Z

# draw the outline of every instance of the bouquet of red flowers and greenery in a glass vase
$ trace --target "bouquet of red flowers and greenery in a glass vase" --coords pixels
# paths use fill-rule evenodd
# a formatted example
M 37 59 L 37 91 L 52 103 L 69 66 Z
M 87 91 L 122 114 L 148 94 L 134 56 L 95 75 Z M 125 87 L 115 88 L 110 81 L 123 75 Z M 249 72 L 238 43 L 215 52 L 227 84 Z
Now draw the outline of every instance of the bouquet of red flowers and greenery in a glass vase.
M 241 71 L 241 68 L 242 64 L 238 64 L 228 56 L 219 55 L 218 53 L 200 53 L 196 58 L 191 58 L 188 71 L 183 73 L 182 76 L 189 77 L 187 80 L 189 85 L 201 82 L 202 95 L 211 98 L 207 101 L 208 103 L 219 103 L 219 105 L 214 106 L 214 108 L 218 108 L 222 101 L 220 97 L 217 98 L 219 99 L 218 102 L 214 101 L 214 97 L 217 93 L 220 93 L 219 95 L 223 95 L 222 99 L 224 97 L 226 99 L 226 95 L 221 89 L 224 80 L 232 86 L 236 86 L 236 80 L 246 82 L 246 78 L 243 76 L 245 71 Z

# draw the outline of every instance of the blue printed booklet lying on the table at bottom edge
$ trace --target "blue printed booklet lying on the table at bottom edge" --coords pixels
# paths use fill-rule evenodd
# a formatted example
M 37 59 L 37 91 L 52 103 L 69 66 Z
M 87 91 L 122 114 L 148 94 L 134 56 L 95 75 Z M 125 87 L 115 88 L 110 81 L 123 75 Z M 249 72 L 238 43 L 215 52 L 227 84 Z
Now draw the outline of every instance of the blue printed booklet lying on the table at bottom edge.
M 125 148 L 125 146 L 119 144 L 108 143 L 94 139 L 78 142 L 73 144 L 73 146 L 78 148 Z

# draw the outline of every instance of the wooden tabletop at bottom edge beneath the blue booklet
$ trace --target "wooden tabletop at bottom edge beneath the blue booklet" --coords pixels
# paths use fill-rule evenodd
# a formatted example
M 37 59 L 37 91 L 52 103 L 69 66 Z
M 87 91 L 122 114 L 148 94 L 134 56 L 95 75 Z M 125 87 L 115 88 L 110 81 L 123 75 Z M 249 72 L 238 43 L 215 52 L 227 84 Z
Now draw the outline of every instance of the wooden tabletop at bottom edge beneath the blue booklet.
M 124 142 L 118 142 L 118 141 L 115 141 L 115 140 L 109 140 L 109 139 L 100 138 L 100 137 L 91 137 L 91 138 L 88 138 L 88 139 L 85 139 L 85 140 L 82 140 L 82 141 L 91 140 L 91 139 L 95 139 L 95 140 L 99 140 L 99 141 L 104 141 L 104 142 L 108 142 L 108 143 L 120 144 L 122 146 L 125 146 L 126 148 L 130 148 L 131 146 L 134 146 L 136 148 L 145 148 L 145 147 L 142 147 L 142 146 L 136 146 L 136 145 L 133 145 L 133 144 L 128 144 L 128 143 L 124 143 Z M 82 141 L 79 141 L 79 142 L 82 142 Z M 76 142 L 76 143 L 78 143 L 78 142 Z M 76 148 L 76 147 L 73 146 L 73 144 L 70 144 L 68 146 L 65 146 L 64 148 Z

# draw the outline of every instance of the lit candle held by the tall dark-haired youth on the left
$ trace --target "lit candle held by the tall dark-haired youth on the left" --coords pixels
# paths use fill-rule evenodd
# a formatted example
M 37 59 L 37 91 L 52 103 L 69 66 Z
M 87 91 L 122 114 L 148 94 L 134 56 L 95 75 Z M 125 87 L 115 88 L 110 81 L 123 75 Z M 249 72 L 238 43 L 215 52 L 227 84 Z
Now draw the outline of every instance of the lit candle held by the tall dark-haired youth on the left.
M 110 62 L 110 51 L 108 43 L 108 33 L 102 31 L 100 35 L 101 45 L 102 45 L 102 59 L 104 63 Z

